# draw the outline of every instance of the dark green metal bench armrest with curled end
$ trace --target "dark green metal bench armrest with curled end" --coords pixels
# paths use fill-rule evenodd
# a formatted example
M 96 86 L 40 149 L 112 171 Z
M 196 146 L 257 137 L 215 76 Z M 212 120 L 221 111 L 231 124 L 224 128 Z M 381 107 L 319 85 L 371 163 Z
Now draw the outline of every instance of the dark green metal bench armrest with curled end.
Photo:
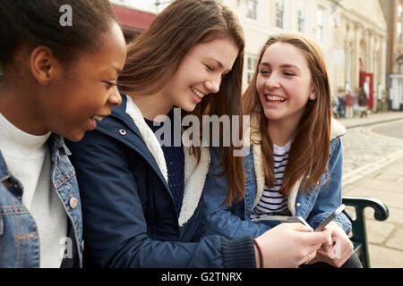
M 343 197 L 343 204 L 346 206 L 353 206 L 356 211 L 356 218 L 353 219 L 348 210 L 344 210 L 348 219 L 353 223 L 352 233 L 350 238 L 354 244 L 354 250 L 356 255 L 360 258 L 360 261 L 364 268 L 370 268 L 370 257 L 368 251 L 368 240 L 366 237 L 366 224 L 364 209 L 367 206 L 372 207 L 375 210 L 373 217 L 377 221 L 385 221 L 389 217 L 389 209 L 381 200 L 376 198 L 361 198 L 361 197 Z

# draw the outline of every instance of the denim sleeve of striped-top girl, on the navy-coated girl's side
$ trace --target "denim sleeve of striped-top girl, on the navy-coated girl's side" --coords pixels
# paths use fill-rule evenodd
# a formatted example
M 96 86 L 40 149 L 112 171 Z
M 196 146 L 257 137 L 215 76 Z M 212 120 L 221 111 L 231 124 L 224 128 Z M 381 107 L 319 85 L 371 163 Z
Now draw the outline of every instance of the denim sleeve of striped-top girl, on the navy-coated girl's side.
M 220 158 L 219 148 L 210 148 L 210 172 L 203 190 L 205 227 L 208 233 L 218 233 L 228 239 L 239 239 L 247 235 L 256 238 L 268 231 L 270 226 L 244 218 L 244 199 L 234 206 L 222 205 L 227 198 L 227 178 L 219 175 L 223 171 L 219 166 Z M 249 185 L 253 184 L 252 180 L 246 180 L 245 196 L 253 196 L 252 192 L 248 192 L 248 189 L 253 189 Z

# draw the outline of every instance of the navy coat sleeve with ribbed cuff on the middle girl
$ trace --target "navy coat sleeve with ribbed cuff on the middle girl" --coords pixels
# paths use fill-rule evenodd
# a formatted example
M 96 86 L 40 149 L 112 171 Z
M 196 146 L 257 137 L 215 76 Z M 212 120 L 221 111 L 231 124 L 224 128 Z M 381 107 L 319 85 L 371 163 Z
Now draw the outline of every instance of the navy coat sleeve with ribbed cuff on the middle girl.
M 251 238 L 152 240 L 127 156 L 134 152 L 98 130 L 69 143 L 82 201 L 85 252 L 101 267 L 255 267 Z M 150 202 L 143 202 L 144 204 Z

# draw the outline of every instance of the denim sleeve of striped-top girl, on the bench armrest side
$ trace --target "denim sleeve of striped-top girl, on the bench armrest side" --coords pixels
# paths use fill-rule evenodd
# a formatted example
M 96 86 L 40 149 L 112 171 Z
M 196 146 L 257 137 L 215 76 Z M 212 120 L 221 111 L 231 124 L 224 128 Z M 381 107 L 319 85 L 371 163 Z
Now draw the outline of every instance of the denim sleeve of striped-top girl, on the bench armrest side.
M 318 226 L 324 219 L 326 219 L 337 207 L 342 204 L 341 198 L 341 186 L 342 186 L 342 161 L 343 151 L 341 139 L 332 140 L 330 160 L 329 160 L 329 172 L 327 178 L 323 180 L 323 186 L 316 198 L 315 205 L 311 214 L 309 214 L 307 222 L 311 224 L 313 228 Z M 351 222 L 348 220 L 346 214 L 339 214 L 334 219 L 334 222 L 339 223 L 339 226 L 343 228 L 348 234 L 351 231 Z

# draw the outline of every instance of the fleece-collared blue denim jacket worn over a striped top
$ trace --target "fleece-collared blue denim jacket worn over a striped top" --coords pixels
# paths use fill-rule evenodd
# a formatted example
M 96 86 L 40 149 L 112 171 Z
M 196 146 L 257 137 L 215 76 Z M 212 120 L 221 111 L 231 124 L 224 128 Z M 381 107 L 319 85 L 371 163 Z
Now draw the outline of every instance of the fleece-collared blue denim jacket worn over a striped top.
M 245 193 L 244 199 L 232 206 L 222 206 L 227 197 L 227 181 L 224 176 L 213 175 L 222 172 L 219 166 L 221 156 L 219 148 L 210 149 L 210 172 L 204 185 L 204 215 L 208 233 L 215 232 L 229 239 L 236 239 L 249 235 L 258 237 L 264 231 L 278 225 L 279 221 L 260 221 L 253 223 L 250 215 L 256 198 L 257 177 L 253 164 L 253 146 L 244 157 Z M 293 215 L 302 216 L 307 223 L 315 228 L 338 206 L 341 205 L 341 174 L 342 174 L 342 146 L 339 137 L 330 141 L 329 172 L 324 172 L 317 183 L 317 189 L 303 195 L 301 189 L 296 192 L 295 201 L 291 199 L 294 209 Z M 298 185 L 299 186 L 299 185 Z M 290 198 L 288 198 L 290 200 Z M 339 214 L 335 222 L 349 233 L 351 222 L 345 214 Z

